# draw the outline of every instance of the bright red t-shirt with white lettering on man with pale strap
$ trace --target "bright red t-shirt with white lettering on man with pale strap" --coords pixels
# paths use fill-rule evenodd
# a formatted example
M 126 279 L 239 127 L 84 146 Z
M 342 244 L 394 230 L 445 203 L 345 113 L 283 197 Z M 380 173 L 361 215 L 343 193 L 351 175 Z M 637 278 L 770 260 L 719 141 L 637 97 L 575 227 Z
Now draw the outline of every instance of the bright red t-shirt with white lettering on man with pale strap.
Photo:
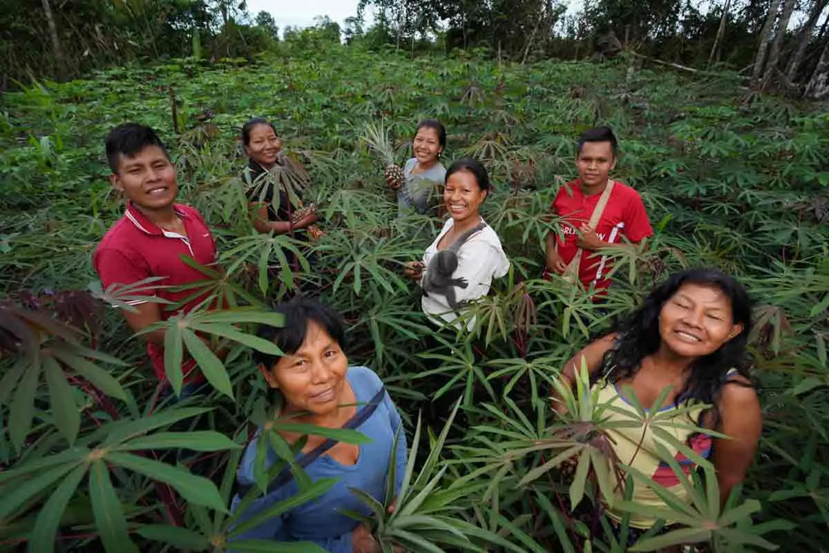
M 576 231 L 582 224 L 589 222 L 600 197 L 601 193 L 584 195 L 581 180 L 574 180 L 562 186 L 555 196 L 551 209 L 563 218 L 561 230 L 564 233 L 563 240 L 557 238 L 557 251 L 565 264 L 573 260 L 575 252 L 579 249 Z M 596 233 L 604 242 L 612 244 L 622 243 L 623 237 L 627 238 L 628 242 L 636 243 L 653 234 L 642 198 L 636 190 L 616 181 L 599 224 L 596 225 Z M 593 286 L 594 290 L 599 292 L 607 290 L 610 286 L 607 274 L 611 267 L 613 260 L 610 257 L 584 250 L 579 265 L 579 280 L 585 288 Z M 602 295 L 604 294 L 597 296 Z

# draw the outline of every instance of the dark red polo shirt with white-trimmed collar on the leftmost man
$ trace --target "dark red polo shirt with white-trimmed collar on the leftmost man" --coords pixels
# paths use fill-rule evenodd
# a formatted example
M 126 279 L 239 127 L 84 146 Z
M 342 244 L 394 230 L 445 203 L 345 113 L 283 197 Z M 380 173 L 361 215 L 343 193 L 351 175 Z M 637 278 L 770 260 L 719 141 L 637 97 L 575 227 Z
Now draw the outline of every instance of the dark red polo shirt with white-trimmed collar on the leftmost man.
M 196 209 L 182 204 L 175 204 L 174 208 L 184 222 L 187 237 L 150 223 L 132 203 L 127 204 L 124 216 L 109 228 L 92 256 L 92 264 L 104 288 L 116 283 L 133 284 L 150 276 L 163 277 L 162 280 L 153 282 L 158 286 L 182 286 L 205 279 L 203 273 L 187 265 L 179 256 L 191 257 L 203 266 L 215 263 L 216 243 L 213 242 L 210 229 Z M 160 288 L 134 292 L 133 295 L 158 296 L 178 304 L 192 294 L 193 290 L 172 291 Z M 162 319 L 167 320 L 180 310 L 190 311 L 203 300 L 200 296 L 182 306 L 162 304 Z M 142 302 L 132 303 L 138 305 Z M 147 344 L 147 353 L 153 362 L 156 376 L 166 379 L 164 349 L 156 344 Z M 192 359 L 182 367 L 185 382 L 196 382 L 201 377 L 197 373 L 188 375 L 194 367 Z

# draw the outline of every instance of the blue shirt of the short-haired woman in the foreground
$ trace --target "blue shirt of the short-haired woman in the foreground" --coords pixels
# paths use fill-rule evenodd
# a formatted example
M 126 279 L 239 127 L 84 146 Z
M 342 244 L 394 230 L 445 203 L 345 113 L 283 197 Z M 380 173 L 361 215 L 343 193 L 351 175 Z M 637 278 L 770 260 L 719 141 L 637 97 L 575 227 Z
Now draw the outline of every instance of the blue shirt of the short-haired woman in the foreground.
M 348 368 L 346 378 L 354 390 L 358 403 L 370 402 L 383 385 L 380 377 L 366 367 Z M 362 408 L 364 407 L 358 406 L 358 409 Z M 356 428 L 371 439 L 371 443 L 360 445 L 356 464 L 351 466 L 340 464 L 329 455 L 323 454 L 305 468 L 308 477 L 314 482 L 320 478 L 339 478 L 327 493 L 313 501 L 294 507 L 281 517 L 274 517 L 250 531 L 234 536 L 233 539 L 312 541 L 331 553 L 352 553 L 351 531 L 358 522 L 342 514 L 342 510 L 359 512 L 366 516 L 369 516 L 371 512 L 349 488 L 360 489 L 378 501 L 383 501 L 391 447 L 398 429 L 400 429 L 400 438 L 397 442 L 395 487 L 397 491 L 400 491 L 407 458 L 405 432 L 401 429 L 400 414 L 389 394 L 386 393 L 383 401 L 371 416 Z M 257 440 L 258 438 L 255 438 L 248 444 L 245 455 L 242 457 L 237 474 L 241 484 L 251 485 L 255 482 L 253 474 Z M 276 455 L 269 448 L 266 463 L 273 464 L 275 459 Z M 245 522 L 274 503 L 290 498 L 296 493 L 298 493 L 298 485 L 296 480 L 292 480 L 282 488 L 256 499 L 239 517 L 237 524 Z M 235 497 L 230 507 L 231 510 L 235 510 L 239 502 L 240 498 Z

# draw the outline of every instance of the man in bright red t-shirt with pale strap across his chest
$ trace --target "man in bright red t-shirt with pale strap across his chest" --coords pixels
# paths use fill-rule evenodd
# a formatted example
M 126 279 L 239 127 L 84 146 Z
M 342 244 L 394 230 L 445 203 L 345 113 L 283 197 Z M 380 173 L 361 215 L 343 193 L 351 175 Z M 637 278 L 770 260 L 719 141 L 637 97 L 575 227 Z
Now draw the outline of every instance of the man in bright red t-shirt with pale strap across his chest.
M 636 190 L 615 181 L 599 222 L 589 221 L 608 187 L 608 174 L 616 166 L 618 143 L 609 127 L 584 132 L 579 139 L 575 165 L 579 179 L 567 183 L 553 201 L 552 211 L 561 218 L 561 231 L 547 236 L 547 270 L 561 275 L 579 248 L 579 281 L 594 299 L 601 299 L 610 286 L 612 259 L 598 253 L 604 248 L 630 248 L 653 234 L 647 212 Z

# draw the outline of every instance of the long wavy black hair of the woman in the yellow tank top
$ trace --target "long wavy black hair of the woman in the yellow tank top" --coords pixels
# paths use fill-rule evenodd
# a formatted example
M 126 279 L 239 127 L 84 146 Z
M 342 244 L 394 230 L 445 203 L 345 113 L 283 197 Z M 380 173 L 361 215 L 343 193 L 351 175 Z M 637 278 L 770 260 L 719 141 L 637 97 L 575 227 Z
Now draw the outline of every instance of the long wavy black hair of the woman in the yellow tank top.
M 736 369 L 740 376 L 751 381 L 751 358 L 746 351 L 746 345 L 751 334 L 752 301 L 744 286 L 734 276 L 720 269 L 700 267 L 676 272 L 654 288 L 631 315 L 616 321 L 613 331 L 618 333 L 618 337 L 613 349 L 604 354 L 599 366 L 599 377 L 605 377 L 609 382 L 632 377 L 641 367 L 642 359 L 657 352 L 662 343 L 659 334 L 662 305 L 665 305 L 686 283 L 719 288 L 731 303 L 731 319 L 734 325 L 743 325 L 739 334 L 721 345 L 720 349 L 696 359 L 691 364 L 691 374 L 686 385 L 676 394 L 676 405 L 693 399 L 713 406 L 716 424 L 719 421 L 716 405 L 722 387 L 728 380 L 727 374 L 730 369 Z

